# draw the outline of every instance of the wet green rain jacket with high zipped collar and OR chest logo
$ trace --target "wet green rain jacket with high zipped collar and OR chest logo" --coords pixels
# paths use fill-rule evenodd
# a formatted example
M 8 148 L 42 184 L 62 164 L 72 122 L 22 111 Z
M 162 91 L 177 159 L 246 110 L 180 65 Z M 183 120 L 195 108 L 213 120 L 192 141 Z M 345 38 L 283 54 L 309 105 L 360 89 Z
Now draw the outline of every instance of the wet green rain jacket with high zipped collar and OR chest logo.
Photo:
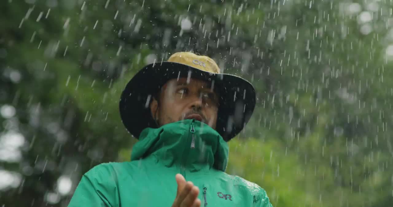
M 217 131 L 195 120 L 142 131 L 131 162 L 95 166 L 83 175 L 69 206 L 170 207 L 175 175 L 199 187 L 201 206 L 272 207 L 264 189 L 226 174 L 228 144 Z

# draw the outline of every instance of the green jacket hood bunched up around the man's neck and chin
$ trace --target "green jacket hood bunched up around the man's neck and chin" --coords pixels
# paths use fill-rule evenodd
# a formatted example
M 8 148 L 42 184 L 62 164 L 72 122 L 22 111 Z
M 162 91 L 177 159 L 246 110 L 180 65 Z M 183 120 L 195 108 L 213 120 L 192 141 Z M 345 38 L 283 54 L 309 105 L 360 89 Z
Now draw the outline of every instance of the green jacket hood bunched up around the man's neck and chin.
M 182 120 L 160 128 L 145 128 L 132 148 L 131 161 L 153 159 L 181 172 L 225 171 L 229 147 L 209 125 L 196 120 Z

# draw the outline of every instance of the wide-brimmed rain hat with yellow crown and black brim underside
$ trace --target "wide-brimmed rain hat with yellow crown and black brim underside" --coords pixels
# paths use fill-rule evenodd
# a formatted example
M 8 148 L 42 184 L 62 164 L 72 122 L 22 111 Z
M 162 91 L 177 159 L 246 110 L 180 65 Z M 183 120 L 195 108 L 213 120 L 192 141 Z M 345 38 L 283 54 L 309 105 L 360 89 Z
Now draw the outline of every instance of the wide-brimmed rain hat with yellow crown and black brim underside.
M 172 54 L 168 61 L 146 65 L 128 82 L 120 97 L 120 116 L 126 129 L 139 138 L 147 127 L 157 128 L 150 103 L 162 86 L 174 78 L 211 82 L 219 95 L 216 131 L 226 142 L 250 120 L 255 108 L 255 89 L 250 82 L 220 68 L 208 56 L 190 52 Z

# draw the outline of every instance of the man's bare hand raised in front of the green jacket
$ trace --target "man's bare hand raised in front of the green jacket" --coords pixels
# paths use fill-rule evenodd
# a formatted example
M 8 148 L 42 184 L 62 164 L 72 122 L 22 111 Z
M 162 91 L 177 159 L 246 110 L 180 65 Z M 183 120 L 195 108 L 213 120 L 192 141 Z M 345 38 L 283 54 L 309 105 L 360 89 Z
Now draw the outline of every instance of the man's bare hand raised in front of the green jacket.
M 176 174 L 177 193 L 172 207 L 200 207 L 198 187 L 189 181 L 186 182 L 181 174 Z

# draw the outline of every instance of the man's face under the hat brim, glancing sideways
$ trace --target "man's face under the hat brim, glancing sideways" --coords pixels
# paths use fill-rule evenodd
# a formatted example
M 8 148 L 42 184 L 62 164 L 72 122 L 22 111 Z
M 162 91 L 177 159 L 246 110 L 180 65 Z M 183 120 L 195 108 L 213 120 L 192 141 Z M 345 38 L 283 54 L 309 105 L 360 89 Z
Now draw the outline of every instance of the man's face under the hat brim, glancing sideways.
M 218 100 L 210 83 L 192 78 L 187 82 L 187 78 L 179 78 L 163 85 L 159 102 L 153 99 L 150 109 L 159 125 L 195 119 L 215 129 Z

